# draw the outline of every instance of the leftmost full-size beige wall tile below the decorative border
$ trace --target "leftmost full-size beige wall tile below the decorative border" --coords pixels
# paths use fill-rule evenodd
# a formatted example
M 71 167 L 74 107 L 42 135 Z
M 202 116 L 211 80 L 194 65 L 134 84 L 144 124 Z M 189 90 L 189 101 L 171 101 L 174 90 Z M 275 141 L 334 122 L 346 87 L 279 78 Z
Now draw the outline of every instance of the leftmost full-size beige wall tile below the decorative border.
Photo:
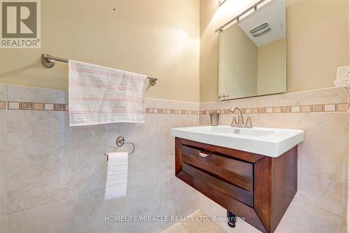
M 73 196 L 73 129 L 55 112 L 8 111 L 8 213 Z

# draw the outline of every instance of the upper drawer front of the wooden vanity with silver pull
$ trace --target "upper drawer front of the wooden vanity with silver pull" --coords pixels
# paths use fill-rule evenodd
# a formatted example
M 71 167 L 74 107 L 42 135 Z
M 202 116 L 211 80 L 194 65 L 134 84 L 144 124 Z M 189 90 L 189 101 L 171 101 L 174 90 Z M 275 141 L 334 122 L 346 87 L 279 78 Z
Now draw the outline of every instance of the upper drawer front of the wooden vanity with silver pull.
M 253 164 L 182 145 L 182 162 L 215 175 L 238 188 L 253 191 Z

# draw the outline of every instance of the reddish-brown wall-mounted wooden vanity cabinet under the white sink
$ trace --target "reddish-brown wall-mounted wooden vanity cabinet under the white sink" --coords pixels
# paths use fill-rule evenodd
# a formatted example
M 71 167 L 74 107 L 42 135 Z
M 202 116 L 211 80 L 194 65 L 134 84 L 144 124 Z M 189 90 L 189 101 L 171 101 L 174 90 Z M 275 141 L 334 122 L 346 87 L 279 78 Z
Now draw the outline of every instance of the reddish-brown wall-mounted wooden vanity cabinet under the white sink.
M 297 146 L 279 157 L 175 138 L 176 177 L 261 232 L 274 232 L 297 192 Z

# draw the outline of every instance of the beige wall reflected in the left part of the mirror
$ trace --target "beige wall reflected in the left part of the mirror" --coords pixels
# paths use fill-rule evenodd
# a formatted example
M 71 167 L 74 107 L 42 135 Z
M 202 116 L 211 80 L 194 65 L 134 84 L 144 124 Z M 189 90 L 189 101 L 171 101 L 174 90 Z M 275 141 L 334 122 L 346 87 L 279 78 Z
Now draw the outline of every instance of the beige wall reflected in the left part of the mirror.
M 221 94 L 241 98 L 257 94 L 258 46 L 238 24 L 219 36 Z M 234 84 L 234 85 L 232 85 Z M 232 94 L 235 94 L 232 96 Z

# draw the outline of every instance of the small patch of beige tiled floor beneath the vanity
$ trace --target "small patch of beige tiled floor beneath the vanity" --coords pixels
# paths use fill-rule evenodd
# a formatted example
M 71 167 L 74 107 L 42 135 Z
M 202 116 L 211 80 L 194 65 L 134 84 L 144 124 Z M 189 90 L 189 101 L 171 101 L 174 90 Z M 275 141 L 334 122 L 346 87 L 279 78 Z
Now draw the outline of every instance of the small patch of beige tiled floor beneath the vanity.
M 188 221 L 175 223 L 161 233 L 227 233 L 217 223 L 207 220 L 203 221 L 204 216 L 206 214 L 202 211 L 195 211 L 189 216 Z

